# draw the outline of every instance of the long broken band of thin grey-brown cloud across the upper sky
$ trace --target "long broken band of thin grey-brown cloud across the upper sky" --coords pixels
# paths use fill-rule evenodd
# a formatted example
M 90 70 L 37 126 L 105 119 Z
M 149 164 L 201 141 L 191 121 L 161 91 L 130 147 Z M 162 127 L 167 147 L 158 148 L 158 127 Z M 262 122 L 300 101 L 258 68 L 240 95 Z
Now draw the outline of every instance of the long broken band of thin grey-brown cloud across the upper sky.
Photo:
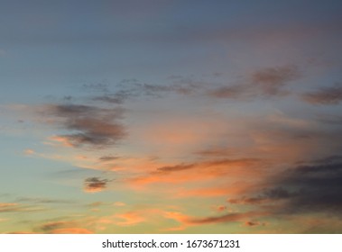
M 280 67 L 264 67 L 252 73 L 245 74 L 243 79 L 233 85 L 219 85 L 210 80 L 196 80 L 192 77 L 173 76 L 165 84 L 143 83 L 136 79 L 123 80 L 114 85 L 116 91 L 108 90 L 109 85 L 86 85 L 101 95 L 95 95 L 93 100 L 105 103 L 121 104 L 134 97 L 161 98 L 167 95 L 180 94 L 187 96 L 209 96 L 218 99 L 246 100 L 260 96 L 282 96 L 288 94 L 284 87 L 302 76 L 296 65 Z M 171 83 L 170 83 L 171 81 Z M 209 86 L 213 86 L 210 88 Z

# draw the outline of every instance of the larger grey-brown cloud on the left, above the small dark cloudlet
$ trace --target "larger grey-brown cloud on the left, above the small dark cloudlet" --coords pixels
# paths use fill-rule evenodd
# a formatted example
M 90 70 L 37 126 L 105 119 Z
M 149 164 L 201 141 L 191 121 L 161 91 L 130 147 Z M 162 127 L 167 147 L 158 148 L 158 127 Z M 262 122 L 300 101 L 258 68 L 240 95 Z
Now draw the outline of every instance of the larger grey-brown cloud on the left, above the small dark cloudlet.
M 118 122 L 123 117 L 123 109 L 105 109 L 96 106 L 61 104 L 50 105 L 48 113 L 61 119 L 60 124 L 66 130 L 60 134 L 60 140 L 73 147 L 106 147 L 114 145 L 125 137 L 125 128 Z

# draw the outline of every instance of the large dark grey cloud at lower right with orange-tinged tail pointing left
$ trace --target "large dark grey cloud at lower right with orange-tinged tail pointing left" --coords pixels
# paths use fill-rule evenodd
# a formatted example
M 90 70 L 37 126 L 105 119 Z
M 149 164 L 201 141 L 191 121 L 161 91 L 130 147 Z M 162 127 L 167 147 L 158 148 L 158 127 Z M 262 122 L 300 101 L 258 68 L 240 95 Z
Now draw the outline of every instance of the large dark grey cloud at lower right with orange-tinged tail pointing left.
M 256 196 L 230 199 L 228 202 L 264 206 L 277 205 L 282 200 L 282 207 L 274 211 L 286 214 L 342 212 L 342 156 L 326 157 L 296 166 L 274 178 L 272 183 L 268 185 L 269 189 L 263 189 Z

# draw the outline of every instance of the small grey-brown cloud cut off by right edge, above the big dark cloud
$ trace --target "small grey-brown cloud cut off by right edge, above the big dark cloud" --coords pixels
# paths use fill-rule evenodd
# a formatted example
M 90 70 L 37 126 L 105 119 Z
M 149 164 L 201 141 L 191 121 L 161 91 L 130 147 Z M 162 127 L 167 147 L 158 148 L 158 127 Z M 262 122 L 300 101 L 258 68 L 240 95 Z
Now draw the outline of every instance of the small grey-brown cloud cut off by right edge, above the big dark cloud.
M 307 103 L 334 105 L 342 101 L 342 84 L 321 87 L 319 90 L 302 94 L 302 99 Z

